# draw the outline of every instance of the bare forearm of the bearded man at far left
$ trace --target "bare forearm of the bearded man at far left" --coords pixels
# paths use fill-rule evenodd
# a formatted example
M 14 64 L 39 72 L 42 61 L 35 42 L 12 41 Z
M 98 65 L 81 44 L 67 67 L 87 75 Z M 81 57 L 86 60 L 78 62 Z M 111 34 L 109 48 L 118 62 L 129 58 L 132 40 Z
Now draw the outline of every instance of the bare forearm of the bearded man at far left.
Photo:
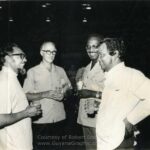
M 25 110 L 20 111 L 18 113 L 12 113 L 12 114 L 0 114 L 0 128 L 3 128 L 8 125 L 12 125 L 27 117 L 28 114 Z

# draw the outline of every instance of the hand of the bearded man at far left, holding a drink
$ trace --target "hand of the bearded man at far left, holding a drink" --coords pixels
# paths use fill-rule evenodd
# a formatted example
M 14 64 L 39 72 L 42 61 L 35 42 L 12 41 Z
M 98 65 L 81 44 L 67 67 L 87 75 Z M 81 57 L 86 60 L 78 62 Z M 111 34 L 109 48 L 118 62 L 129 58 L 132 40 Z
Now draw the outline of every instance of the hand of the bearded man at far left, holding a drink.
M 27 114 L 27 117 L 34 117 L 38 116 L 42 113 L 41 105 L 29 105 L 25 109 L 25 114 Z

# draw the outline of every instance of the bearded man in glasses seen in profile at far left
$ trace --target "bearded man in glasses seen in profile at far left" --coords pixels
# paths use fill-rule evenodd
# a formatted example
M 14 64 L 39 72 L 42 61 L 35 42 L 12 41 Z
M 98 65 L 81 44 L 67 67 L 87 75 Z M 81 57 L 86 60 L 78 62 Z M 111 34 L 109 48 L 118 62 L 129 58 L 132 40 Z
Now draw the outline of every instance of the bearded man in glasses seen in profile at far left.
M 41 113 L 29 106 L 17 75 L 24 70 L 24 52 L 16 44 L 0 51 L 0 149 L 32 150 L 30 117 Z

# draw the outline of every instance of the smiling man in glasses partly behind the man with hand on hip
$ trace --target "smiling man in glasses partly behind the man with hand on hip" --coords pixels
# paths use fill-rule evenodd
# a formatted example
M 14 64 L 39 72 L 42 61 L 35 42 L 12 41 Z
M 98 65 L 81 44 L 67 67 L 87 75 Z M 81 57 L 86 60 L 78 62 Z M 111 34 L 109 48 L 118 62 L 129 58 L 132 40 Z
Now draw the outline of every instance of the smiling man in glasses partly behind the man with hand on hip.
M 98 34 L 88 37 L 86 51 L 91 62 L 82 71 L 78 71 L 77 76 L 80 77 L 76 78 L 80 97 L 77 122 L 83 128 L 86 150 L 96 150 L 96 116 L 104 80 L 104 74 L 98 62 L 101 40 L 102 37 Z

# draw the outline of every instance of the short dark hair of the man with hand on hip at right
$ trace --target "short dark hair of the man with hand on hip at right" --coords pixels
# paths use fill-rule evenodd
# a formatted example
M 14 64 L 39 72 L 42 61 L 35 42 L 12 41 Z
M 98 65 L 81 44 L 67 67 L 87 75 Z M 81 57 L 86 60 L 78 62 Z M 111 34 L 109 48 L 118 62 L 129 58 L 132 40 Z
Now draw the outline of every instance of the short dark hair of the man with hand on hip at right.
M 117 50 L 120 60 L 124 60 L 125 44 L 122 38 L 104 38 L 102 43 L 106 44 L 110 55 L 114 55 Z

